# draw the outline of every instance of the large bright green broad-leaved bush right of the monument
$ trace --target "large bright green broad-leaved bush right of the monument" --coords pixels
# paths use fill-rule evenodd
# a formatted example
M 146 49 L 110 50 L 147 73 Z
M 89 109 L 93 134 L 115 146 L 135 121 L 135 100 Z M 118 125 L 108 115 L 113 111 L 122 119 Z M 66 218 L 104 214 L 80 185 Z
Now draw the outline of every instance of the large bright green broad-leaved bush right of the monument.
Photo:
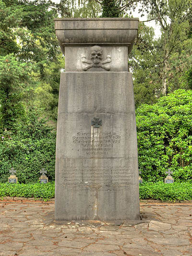
M 192 182 L 192 91 L 177 90 L 136 110 L 139 169 L 145 181 Z

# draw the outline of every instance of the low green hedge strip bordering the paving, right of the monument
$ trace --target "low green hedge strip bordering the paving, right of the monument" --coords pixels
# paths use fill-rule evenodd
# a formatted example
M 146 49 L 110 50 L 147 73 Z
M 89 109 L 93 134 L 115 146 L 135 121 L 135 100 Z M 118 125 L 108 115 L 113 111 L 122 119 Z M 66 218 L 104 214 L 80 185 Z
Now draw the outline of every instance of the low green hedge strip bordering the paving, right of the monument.
M 192 200 L 192 183 L 143 183 L 139 185 L 139 197 L 162 201 Z

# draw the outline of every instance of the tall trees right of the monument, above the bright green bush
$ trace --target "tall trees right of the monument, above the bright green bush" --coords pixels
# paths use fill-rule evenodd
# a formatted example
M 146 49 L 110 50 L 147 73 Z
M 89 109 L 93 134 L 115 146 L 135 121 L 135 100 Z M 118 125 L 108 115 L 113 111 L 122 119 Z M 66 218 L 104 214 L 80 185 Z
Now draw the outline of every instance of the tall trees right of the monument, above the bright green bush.
M 178 7 L 179 6 L 179 7 Z M 140 22 L 129 65 L 133 71 L 135 103 L 154 103 L 177 89 L 190 89 L 192 38 L 190 0 L 146 0 L 147 20 L 155 20 L 161 30 Z

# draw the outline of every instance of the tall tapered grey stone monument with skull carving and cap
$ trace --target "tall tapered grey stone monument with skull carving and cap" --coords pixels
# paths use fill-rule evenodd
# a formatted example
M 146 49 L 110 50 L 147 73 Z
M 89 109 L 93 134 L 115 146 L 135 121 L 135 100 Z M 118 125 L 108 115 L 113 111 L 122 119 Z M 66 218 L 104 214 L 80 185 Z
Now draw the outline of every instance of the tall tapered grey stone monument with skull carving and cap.
M 55 19 L 60 75 L 55 220 L 139 219 L 128 53 L 138 19 Z

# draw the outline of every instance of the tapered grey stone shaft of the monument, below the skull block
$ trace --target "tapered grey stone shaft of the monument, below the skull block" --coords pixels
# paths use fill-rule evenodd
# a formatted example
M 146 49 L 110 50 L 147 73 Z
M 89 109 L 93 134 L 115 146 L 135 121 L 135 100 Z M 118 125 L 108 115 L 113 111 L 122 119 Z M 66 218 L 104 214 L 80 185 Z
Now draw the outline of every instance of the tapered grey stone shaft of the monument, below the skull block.
M 55 198 L 56 220 L 139 219 L 131 73 L 61 74 Z

